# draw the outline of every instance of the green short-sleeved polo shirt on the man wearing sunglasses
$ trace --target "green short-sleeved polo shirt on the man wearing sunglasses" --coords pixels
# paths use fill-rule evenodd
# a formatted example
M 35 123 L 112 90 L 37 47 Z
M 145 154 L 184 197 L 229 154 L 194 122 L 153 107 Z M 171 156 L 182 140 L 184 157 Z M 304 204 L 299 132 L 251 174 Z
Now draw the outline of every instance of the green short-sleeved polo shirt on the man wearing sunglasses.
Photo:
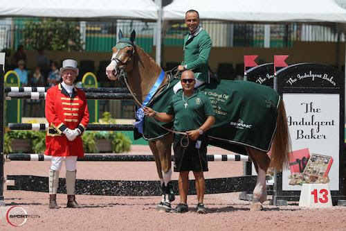
M 186 108 L 185 103 L 188 103 Z M 208 116 L 215 116 L 210 99 L 199 90 L 190 97 L 184 96 L 184 101 L 183 90 L 179 90 L 172 96 L 166 113 L 174 115 L 174 129 L 180 132 L 197 129 Z

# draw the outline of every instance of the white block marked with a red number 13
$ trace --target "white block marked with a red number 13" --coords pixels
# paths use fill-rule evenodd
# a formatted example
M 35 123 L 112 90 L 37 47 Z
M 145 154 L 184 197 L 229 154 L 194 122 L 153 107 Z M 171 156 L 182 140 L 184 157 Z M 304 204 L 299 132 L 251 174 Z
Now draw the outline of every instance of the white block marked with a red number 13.
M 299 198 L 300 207 L 332 207 L 328 184 L 303 184 Z

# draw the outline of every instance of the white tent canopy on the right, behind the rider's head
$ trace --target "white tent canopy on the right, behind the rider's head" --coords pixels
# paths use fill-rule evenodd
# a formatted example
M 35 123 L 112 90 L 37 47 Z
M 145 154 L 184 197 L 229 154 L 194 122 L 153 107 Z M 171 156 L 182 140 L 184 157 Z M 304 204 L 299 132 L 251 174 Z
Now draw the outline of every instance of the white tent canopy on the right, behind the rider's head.
M 185 19 L 190 9 L 201 19 L 233 22 L 346 23 L 346 10 L 334 0 L 174 0 L 163 8 L 163 20 Z

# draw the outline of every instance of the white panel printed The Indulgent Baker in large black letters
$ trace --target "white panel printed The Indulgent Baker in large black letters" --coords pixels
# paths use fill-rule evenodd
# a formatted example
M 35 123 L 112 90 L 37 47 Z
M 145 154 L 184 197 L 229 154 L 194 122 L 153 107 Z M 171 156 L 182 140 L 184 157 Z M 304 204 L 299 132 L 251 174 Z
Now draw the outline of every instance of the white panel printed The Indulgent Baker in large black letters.
M 311 153 L 330 155 L 334 162 L 329 171 L 329 187 L 339 190 L 340 97 L 339 94 L 282 95 L 291 136 L 292 151 L 309 148 Z M 282 172 L 282 191 L 298 191 L 289 185 L 290 170 Z

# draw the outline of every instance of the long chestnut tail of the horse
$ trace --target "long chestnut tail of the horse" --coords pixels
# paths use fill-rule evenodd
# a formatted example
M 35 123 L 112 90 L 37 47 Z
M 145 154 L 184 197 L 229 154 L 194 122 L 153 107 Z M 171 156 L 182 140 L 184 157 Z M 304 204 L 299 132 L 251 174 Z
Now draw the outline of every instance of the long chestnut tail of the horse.
M 273 145 L 271 146 L 271 167 L 276 171 L 282 171 L 282 169 L 289 167 L 289 153 L 291 153 L 291 139 L 282 99 L 277 113 L 276 126 Z

